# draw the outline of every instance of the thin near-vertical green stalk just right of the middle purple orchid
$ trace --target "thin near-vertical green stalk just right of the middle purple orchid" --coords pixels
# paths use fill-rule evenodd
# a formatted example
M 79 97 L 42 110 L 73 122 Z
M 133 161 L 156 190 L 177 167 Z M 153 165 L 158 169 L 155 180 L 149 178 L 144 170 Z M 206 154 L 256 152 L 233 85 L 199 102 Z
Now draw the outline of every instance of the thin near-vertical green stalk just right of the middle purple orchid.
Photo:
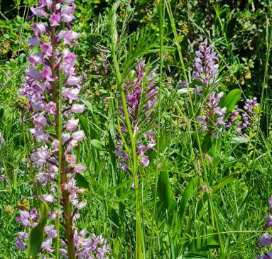
M 164 26 L 164 0 L 159 3 L 159 29 L 160 29 L 160 77 L 158 87 L 158 138 L 157 138 L 157 155 L 156 155 L 156 171 L 155 171 L 155 190 L 153 197 L 153 213 L 152 213 L 152 229 L 151 229 L 151 245 L 149 248 L 149 256 L 151 258 L 154 238 L 154 224 L 156 214 L 157 189 L 158 189 L 158 161 L 160 152 L 160 135 L 161 135 L 161 88 L 163 85 L 163 26 Z

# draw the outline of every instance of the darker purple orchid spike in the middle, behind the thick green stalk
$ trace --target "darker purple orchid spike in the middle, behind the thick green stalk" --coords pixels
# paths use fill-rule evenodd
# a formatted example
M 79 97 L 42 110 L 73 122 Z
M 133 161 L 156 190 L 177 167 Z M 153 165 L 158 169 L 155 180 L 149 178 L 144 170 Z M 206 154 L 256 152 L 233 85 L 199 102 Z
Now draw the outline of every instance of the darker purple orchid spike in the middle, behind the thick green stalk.
M 152 129 L 153 124 L 151 123 L 153 116 L 152 111 L 156 107 L 156 102 L 158 100 L 158 88 L 155 84 L 156 70 L 146 73 L 145 62 L 139 62 L 136 67 L 136 71 L 131 71 L 131 76 L 134 79 L 129 80 L 128 84 L 124 84 L 124 92 L 126 94 L 126 105 L 129 112 L 129 119 L 131 121 L 131 128 L 134 133 L 142 134 L 142 138 L 136 140 L 136 152 L 138 154 L 139 160 L 141 160 L 141 165 L 147 167 L 149 164 L 148 155 L 146 155 L 147 150 L 154 149 L 156 145 L 156 138 L 154 136 L 154 131 Z M 124 118 L 124 109 L 121 107 L 119 110 L 122 118 Z M 126 125 L 121 124 L 121 133 L 126 138 L 128 135 Z M 147 132 L 143 132 L 143 127 L 148 126 L 151 128 Z M 128 170 L 127 160 L 129 155 L 126 151 L 122 150 L 124 143 L 122 142 L 119 134 L 116 135 L 118 139 L 118 144 L 116 145 L 116 155 L 120 158 L 120 167 L 123 170 Z

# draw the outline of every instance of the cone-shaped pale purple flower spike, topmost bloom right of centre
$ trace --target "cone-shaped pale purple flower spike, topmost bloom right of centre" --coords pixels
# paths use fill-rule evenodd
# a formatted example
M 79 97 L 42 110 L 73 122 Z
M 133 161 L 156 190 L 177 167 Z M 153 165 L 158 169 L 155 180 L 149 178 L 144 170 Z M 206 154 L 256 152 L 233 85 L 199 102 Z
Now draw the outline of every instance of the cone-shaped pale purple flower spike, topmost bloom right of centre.
M 209 84 L 217 76 L 218 64 L 215 64 L 215 62 L 218 62 L 218 58 L 215 52 L 212 53 L 212 46 L 207 45 L 207 39 L 199 46 L 195 55 L 195 71 L 192 75 L 202 84 L 205 84 L 207 90 Z

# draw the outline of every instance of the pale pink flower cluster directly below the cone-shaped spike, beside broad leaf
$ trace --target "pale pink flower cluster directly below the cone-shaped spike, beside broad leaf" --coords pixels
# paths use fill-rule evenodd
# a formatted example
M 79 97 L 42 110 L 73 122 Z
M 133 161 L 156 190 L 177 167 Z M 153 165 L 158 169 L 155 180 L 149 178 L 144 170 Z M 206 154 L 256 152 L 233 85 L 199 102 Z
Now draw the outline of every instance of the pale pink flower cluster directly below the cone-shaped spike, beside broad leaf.
M 210 135 L 217 138 L 222 126 L 225 125 L 225 115 L 227 108 L 219 107 L 219 101 L 223 97 L 223 92 L 216 95 L 212 92 L 210 96 L 202 104 L 201 116 L 197 117 L 197 121 L 201 123 L 202 131 L 207 131 Z

